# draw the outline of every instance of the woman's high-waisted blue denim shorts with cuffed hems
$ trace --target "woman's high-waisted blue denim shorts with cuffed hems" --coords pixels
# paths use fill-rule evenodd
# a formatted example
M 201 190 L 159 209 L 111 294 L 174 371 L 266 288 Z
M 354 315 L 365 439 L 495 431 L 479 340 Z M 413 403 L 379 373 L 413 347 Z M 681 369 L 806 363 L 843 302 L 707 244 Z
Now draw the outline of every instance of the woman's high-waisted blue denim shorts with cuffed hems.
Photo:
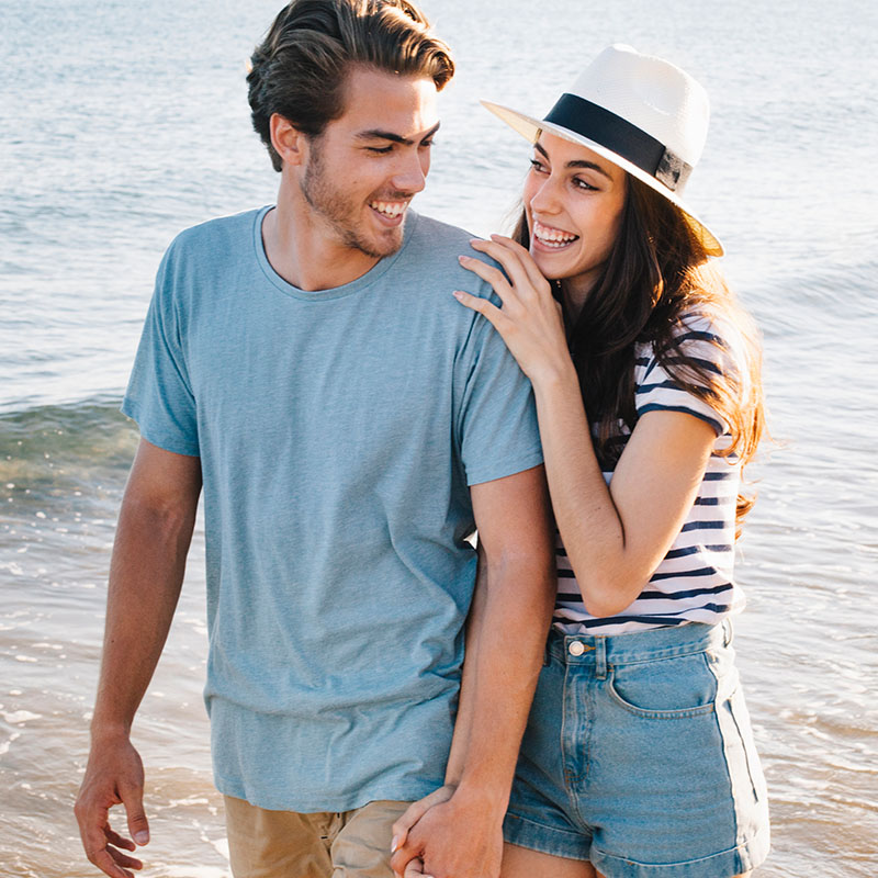
M 552 631 L 504 834 L 607 878 L 758 866 L 768 807 L 731 624 Z

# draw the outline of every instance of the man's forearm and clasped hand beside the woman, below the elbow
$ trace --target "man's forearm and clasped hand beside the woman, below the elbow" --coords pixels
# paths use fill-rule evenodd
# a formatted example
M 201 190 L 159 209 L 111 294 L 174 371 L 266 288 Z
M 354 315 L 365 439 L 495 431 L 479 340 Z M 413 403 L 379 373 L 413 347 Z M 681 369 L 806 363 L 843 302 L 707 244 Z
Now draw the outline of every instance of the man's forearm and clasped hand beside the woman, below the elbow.
M 530 558 L 484 564 L 480 558 L 446 787 L 394 824 L 397 876 L 415 858 L 429 875 L 499 875 L 503 818 L 555 589 L 548 541 L 539 542 Z

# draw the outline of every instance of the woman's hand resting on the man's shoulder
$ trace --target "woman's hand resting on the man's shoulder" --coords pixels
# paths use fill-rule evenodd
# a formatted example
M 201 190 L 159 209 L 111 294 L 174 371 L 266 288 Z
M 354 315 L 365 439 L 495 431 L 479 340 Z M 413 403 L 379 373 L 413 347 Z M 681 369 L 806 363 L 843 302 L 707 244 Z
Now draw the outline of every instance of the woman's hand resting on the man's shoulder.
M 491 320 L 532 382 L 551 379 L 570 369 L 561 305 L 530 254 L 502 235 L 492 235 L 491 240 L 474 238 L 471 245 L 503 266 L 506 274 L 475 257 L 460 257 L 465 269 L 494 288 L 503 307 L 462 290 L 454 291 L 455 299 Z

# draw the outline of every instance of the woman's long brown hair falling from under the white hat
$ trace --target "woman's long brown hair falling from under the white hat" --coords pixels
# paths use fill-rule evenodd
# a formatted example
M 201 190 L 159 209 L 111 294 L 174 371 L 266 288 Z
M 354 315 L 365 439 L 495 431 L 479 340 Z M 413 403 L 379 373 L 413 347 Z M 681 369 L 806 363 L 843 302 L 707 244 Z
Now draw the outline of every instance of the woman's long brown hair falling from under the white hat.
M 513 237 L 530 246 L 521 213 Z M 555 284 L 563 304 L 563 280 Z M 740 335 L 743 362 L 716 371 L 711 363 L 686 353 L 684 318 L 702 314 L 731 325 Z M 729 447 L 742 466 L 756 452 L 764 425 L 762 352 L 750 315 L 738 304 L 685 214 L 650 187 L 628 176 L 619 234 L 606 266 L 575 319 L 564 315 L 571 357 L 579 376 L 585 410 L 595 425 L 595 452 L 612 469 L 624 446 L 619 424 L 634 429 L 635 347 L 653 346 L 672 379 L 703 399 L 728 425 Z M 729 361 L 719 338 L 716 361 Z M 738 536 L 754 498 L 739 494 Z

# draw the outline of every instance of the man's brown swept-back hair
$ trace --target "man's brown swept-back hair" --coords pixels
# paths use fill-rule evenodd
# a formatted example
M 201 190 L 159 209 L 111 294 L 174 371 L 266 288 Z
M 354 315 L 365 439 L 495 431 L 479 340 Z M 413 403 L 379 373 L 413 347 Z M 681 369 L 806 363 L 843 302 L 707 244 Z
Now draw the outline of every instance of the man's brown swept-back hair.
M 293 0 L 250 64 L 254 128 L 275 171 L 282 161 L 271 145 L 272 114 L 318 137 L 345 112 L 345 80 L 352 65 L 429 77 L 439 90 L 454 75 L 450 49 L 408 0 Z

